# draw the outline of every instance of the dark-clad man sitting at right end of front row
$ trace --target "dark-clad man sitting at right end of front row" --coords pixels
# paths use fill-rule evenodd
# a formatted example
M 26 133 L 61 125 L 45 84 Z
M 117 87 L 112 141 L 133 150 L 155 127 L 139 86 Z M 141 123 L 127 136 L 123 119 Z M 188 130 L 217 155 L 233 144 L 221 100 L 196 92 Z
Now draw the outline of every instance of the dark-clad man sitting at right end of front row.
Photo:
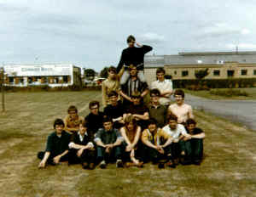
M 203 139 L 206 137 L 201 128 L 196 127 L 196 121 L 189 119 L 186 122 L 188 136 L 181 141 L 181 155 L 184 163 L 200 165 L 203 156 Z

